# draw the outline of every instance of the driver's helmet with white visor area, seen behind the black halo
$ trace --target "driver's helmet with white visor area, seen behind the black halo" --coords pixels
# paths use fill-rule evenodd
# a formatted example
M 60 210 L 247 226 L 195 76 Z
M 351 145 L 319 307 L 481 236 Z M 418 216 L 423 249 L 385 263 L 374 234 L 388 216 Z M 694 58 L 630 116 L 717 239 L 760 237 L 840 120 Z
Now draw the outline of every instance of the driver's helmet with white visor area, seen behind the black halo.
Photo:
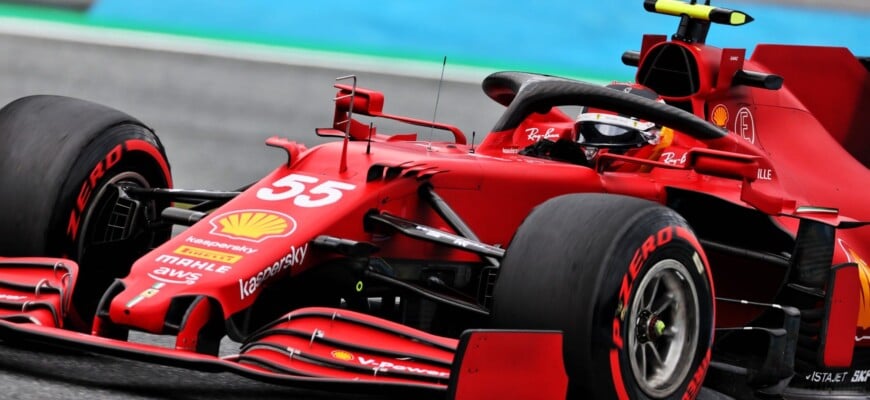
M 635 83 L 614 82 L 606 87 L 664 102 L 652 89 Z M 628 149 L 657 144 L 660 128 L 655 123 L 613 111 L 583 107 L 574 124 L 582 146 Z

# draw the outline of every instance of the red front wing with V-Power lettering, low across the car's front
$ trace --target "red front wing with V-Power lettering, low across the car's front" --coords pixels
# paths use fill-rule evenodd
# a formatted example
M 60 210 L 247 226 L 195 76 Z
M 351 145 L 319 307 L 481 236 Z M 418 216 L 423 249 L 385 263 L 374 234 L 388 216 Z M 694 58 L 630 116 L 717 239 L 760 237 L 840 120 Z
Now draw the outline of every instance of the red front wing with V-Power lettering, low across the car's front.
M 0 259 L 0 339 L 39 343 L 272 384 L 452 399 L 564 399 L 562 334 L 469 330 L 459 340 L 349 310 L 303 308 L 217 357 L 64 329 L 78 267 Z

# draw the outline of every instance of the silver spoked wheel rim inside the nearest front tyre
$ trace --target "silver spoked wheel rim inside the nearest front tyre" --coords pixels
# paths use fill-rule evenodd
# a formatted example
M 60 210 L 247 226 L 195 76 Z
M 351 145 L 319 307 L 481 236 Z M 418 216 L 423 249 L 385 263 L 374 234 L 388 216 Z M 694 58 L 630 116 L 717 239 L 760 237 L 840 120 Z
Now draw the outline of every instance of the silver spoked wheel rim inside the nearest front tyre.
M 638 386 L 650 397 L 672 394 L 689 374 L 699 310 L 695 283 L 677 260 L 657 262 L 637 284 L 628 319 L 628 356 Z

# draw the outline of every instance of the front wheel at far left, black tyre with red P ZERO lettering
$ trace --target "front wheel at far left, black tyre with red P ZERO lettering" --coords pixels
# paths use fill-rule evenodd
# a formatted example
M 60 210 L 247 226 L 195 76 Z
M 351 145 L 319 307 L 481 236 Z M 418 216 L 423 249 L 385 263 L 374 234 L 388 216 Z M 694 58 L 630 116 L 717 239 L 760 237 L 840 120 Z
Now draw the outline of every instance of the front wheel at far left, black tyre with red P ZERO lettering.
M 74 326 L 90 328 L 103 291 L 171 233 L 149 227 L 168 204 L 120 198 L 118 186 L 171 184 L 160 140 L 127 114 L 61 96 L 0 109 L 0 255 L 76 261 Z

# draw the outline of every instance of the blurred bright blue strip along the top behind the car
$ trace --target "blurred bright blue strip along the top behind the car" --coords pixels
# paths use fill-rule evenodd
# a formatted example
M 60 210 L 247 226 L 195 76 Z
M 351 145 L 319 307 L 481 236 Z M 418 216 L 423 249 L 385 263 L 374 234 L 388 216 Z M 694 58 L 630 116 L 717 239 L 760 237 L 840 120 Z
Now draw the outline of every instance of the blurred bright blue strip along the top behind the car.
M 504 69 L 622 79 L 620 62 L 643 33 L 672 34 L 678 20 L 643 10 L 640 0 L 432 2 L 407 0 L 98 0 L 95 23 L 279 45 Z M 756 21 L 714 26 L 708 43 L 845 46 L 870 55 L 870 15 L 714 1 Z

